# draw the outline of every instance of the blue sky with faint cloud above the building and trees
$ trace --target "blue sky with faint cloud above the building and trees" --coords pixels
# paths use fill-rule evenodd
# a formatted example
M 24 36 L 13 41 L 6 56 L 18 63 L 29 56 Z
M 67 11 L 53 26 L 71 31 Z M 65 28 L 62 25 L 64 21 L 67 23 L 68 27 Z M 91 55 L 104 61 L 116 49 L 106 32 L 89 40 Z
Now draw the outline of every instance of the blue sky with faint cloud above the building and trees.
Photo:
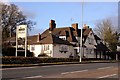
M 28 19 L 36 25 L 30 35 L 42 33 L 49 28 L 51 19 L 56 27 L 67 27 L 78 23 L 82 28 L 82 2 L 12 2 L 16 4 Z M 95 28 L 95 23 L 106 18 L 116 24 L 118 17 L 118 2 L 84 2 L 83 24 Z

